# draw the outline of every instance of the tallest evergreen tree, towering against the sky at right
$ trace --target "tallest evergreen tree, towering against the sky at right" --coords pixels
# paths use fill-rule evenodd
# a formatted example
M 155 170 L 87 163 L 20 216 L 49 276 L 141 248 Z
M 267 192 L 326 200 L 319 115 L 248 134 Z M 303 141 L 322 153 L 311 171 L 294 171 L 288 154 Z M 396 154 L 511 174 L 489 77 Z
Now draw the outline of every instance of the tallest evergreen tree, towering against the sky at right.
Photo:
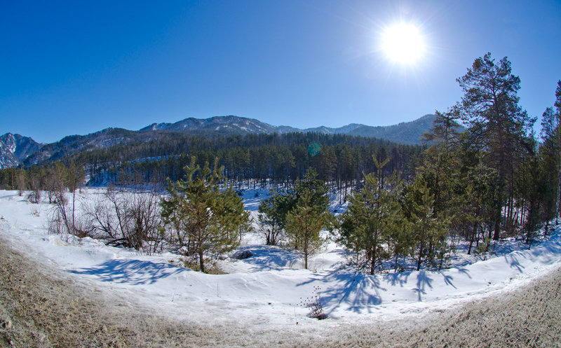
M 482 141 L 486 164 L 499 173 L 499 209 L 494 214 L 493 236 L 499 239 L 503 207 L 508 208 L 507 225 L 503 227 L 508 229 L 513 221 L 515 154 L 529 148 L 526 133 L 536 119 L 529 118 L 518 105 L 520 78 L 511 74 L 511 62 L 506 57 L 495 64 L 487 53 L 457 81 L 464 90 L 457 107 L 469 124 L 473 141 Z

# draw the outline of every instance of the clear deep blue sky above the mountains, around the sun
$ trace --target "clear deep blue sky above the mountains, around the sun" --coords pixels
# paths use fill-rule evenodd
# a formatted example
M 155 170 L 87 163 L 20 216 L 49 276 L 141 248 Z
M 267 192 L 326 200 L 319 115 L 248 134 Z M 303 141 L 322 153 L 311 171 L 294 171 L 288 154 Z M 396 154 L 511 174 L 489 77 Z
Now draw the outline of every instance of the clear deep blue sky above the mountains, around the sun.
M 413 64 L 380 49 L 397 22 L 424 40 Z M 0 134 L 225 115 L 391 125 L 459 101 L 456 78 L 487 52 L 541 116 L 561 79 L 561 2 L 0 1 Z

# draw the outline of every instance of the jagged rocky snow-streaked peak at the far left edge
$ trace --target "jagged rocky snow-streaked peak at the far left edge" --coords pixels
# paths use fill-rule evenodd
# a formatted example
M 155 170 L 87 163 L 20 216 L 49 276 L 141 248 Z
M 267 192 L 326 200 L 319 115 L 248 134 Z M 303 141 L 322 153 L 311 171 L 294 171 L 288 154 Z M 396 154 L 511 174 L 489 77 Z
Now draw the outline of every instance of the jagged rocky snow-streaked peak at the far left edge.
M 6 133 L 0 137 L 0 169 L 17 167 L 43 146 L 29 137 Z

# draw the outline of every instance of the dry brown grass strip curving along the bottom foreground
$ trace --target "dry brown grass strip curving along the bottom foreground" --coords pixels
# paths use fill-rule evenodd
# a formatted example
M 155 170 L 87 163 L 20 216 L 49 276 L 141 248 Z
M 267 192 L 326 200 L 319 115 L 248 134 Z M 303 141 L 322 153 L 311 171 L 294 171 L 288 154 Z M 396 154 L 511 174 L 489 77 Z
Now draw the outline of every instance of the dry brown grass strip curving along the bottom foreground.
M 142 314 L 73 284 L 0 232 L 0 348 L 4 347 L 561 347 L 561 270 L 500 297 L 422 319 L 266 330 L 205 327 Z M 243 320 L 243 319 L 241 319 Z M 266 331 L 264 331 L 266 330 Z

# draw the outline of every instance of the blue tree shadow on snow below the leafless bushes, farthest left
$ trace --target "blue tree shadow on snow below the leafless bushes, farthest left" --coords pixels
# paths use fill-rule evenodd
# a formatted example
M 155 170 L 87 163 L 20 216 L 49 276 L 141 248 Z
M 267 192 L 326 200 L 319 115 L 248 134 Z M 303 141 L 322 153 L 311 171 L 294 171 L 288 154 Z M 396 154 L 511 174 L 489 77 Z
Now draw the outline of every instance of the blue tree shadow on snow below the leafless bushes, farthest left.
M 101 281 L 114 281 L 131 285 L 154 284 L 158 279 L 183 272 L 184 269 L 166 263 L 141 260 L 107 260 L 100 265 L 69 271 L 74 274 L 88 274 Z

